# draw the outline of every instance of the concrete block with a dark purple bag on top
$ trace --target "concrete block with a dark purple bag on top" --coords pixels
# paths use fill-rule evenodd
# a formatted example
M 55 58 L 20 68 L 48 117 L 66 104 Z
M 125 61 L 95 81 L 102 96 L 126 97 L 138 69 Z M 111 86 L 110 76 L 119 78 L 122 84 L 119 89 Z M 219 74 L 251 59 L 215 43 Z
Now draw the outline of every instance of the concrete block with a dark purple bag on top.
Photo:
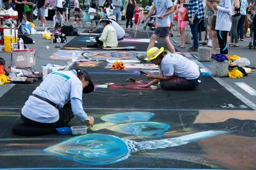
M 213 77 L 227 77 L 228 61 L 219 62 L 213 60 L 211 63 L 211 76 Z

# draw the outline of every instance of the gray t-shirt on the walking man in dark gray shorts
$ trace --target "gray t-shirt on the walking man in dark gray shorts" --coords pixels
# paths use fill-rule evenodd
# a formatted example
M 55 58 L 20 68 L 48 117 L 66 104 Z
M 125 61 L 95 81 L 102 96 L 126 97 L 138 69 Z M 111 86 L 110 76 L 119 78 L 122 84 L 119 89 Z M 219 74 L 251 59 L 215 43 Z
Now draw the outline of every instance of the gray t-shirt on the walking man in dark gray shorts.
M 156 15 L 162 15 L 167 13 L 168 8 L 173 7 L 173 3 L 170 0 L 154 0 L 153 6 L 156 8 Z M 164 16 L 162 19 L 156 18 L 157 27 L 170 27 L 169 16 Z

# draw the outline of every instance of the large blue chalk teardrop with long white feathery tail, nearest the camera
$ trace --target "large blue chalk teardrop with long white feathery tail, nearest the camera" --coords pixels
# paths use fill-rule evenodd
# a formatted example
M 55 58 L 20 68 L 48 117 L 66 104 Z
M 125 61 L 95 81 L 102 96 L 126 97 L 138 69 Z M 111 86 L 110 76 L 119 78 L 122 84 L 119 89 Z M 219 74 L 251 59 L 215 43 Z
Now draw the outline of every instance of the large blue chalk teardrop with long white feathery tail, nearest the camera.
M 53 145 L 44 151 L 88 165 L 104 165 L 120 162 L 140 150 L 175 147 L 193 141 L 228 133 L 204 131 L 181 137 L 136 142 L 106 134 L 87 134 L 73 137 Z

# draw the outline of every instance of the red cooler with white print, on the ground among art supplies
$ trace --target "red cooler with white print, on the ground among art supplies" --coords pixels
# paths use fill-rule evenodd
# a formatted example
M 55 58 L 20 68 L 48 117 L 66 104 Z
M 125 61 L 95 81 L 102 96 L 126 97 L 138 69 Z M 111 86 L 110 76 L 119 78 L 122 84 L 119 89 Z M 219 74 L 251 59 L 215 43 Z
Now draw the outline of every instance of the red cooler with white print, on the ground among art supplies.
M 16 67 L 31 67 L 35 65 L 35 48 L 13 50 L 12 55 Z

